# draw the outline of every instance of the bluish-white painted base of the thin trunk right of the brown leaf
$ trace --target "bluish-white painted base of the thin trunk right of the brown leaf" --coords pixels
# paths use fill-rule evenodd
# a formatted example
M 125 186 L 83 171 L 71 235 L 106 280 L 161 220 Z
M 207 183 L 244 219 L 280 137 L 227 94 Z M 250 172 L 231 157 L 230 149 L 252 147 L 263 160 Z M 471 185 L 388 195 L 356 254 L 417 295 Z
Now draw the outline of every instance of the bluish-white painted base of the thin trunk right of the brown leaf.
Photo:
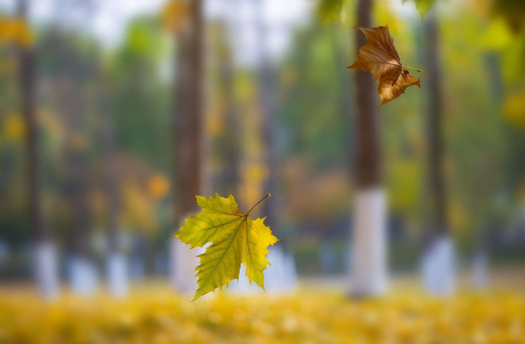
M 454 292 L 454 244 L 449 235 L 437 238 L 423 254 L 422 273 L 426 291 L 436 296 Z

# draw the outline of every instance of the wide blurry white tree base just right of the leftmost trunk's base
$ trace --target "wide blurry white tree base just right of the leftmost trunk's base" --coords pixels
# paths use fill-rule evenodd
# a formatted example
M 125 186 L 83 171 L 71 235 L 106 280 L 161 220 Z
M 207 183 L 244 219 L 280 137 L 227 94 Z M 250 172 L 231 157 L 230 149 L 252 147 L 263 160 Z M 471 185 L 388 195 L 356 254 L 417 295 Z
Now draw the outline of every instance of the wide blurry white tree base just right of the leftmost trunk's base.
M 83 257 L 73 257 L 69 262 L 69 282 L 72 291 L 78 295 L 95 294 L 98 288 L 96 265 Z

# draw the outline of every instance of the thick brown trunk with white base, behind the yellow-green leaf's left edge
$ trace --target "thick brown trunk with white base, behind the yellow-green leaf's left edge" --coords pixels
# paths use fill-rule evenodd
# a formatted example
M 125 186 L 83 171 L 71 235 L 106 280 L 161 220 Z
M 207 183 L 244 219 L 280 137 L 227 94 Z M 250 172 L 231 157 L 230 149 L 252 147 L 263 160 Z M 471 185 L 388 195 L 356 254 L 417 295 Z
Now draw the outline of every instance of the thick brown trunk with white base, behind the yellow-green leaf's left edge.
M 197 212 L 195 195 L 201 190 L 202 112 L 203 112 L 203 0 L 190 1 L 190 25 L 176 39 L 175 76 L 175 225 Z M 195 251 L 172 240 L 171 280 L 175 288 L 194 288 L 198 265 Z M 196 265 L 193 265 L 194 262 Z

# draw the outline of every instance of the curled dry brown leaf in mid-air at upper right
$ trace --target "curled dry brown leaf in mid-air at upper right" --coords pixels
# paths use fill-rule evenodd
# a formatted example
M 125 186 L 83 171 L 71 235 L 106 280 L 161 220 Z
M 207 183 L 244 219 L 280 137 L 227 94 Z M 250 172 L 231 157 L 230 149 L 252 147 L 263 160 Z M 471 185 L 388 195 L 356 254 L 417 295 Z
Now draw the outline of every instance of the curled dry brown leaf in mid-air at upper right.
M 374 80 L 379 80 L 377 93 L 381 97 L 381 105 L 396 99 L 405 93 L 407 87 L 417 85 L 421 88 L 421 79 L 415 78 L 405 68 L 419 73 L 421 69 L 403 66 L 399 54 L 394 46 L 394 39 L 390 36 L 387 26 L 360 29 L 366 36 L 366 45 L 359 48 L 359 56 L 350 67 L 371 72 Z

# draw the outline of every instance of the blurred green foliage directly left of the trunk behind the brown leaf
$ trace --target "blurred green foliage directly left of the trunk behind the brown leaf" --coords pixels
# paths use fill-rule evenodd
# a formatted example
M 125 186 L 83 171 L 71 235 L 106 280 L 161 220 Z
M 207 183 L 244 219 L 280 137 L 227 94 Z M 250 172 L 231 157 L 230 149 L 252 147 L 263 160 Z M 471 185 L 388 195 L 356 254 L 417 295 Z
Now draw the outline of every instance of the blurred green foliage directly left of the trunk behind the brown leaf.
M 319 169 L 346 158 L 351 101 L 351 79 L 344 69 L 348 40 L 348 30 L 314 23 L 296 35 L 292 53 L 281 70 L 280 122 L 289 150 L 283 153 L 308 155 Z

